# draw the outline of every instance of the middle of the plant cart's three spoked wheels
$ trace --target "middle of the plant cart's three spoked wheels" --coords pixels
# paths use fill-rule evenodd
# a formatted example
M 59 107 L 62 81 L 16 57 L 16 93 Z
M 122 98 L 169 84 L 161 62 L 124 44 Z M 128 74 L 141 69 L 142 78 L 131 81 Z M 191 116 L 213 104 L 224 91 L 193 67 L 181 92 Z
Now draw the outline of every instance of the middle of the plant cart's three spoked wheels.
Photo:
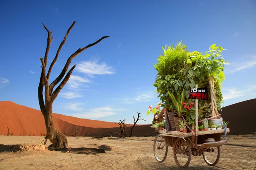
M 191 144 L 188 140 L 177 138 L 173 145 L 173 156 L 178 167 L 188 167 L 191 161 Z

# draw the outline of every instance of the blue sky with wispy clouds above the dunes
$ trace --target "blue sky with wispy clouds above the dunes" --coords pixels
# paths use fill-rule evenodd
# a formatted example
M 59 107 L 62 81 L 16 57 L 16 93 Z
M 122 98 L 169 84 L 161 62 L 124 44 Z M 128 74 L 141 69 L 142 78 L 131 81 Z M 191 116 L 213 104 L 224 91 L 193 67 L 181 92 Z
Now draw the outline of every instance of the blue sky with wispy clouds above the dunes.
M 102 36 L 111 37 L 82 52 L 67 85 L 53 103 L 53 112 L 117 122 L 133 115 L 150 124 L 149 105 L 155 94 L 153 65 L 162 46 L 183 40 L 189 51 L 205 52 L 221 45 L 225 67 L 224 106 L 256 98 L 256 2 L 238 1 L 1 1 L 0 101 L 13 101 L 39 110 L 40 57 L 47 31 L 53 30 L 49 63 L 73 21 L 50 81 L 78 48 Z

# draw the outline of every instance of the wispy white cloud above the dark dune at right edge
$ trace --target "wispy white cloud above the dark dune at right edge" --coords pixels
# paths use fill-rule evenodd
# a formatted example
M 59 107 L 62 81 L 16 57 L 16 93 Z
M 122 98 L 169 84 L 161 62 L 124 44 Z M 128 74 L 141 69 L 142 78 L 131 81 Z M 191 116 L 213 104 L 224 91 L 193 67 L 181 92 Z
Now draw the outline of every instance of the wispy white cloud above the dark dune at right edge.
M 239 88 L 242 90 L 236 90 L 236 88 L 223 89 L 223 100 L 234 99 L 241 96 L 246 96 L 248 93 L 256 92 L 256 85 L 250 85 L 245 88 Z

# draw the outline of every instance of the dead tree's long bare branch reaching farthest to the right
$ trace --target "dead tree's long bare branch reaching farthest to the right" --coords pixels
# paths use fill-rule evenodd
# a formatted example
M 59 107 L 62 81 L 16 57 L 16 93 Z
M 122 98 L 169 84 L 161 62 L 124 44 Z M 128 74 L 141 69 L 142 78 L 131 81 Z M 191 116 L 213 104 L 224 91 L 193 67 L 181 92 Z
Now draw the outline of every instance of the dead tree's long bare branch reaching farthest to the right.
M 66 64 L 65 64 L 63 70 L 61 71 L 61 74 L 60 74 L 60 75 L 51 83 L 51 85 L 49 86 L 50 91 L 52 91 L 53 88 L 55 87 L 55 85 L 57 85 L 57 84 L 61 81 L 61 79 L 64 77 L 64 75 L 66 74 L 67 69 L 68 69 L 68 67 L 69 67 L 69 65 L 70 65 L 70 63 L 71 63 L 71 61 L 72 61 L 73 58 L 75 58 L 76 56 L 78 56 L 81 52 L 83 52 L 83 51 L 86 50 L 87 48 L 90 48 L 91 46 L 98 44 L 98 43 L 101 42 L 103 39 L 108 38 L 108 37 L 110 37 L 110 36 L 102 37 L 102 38 L 99 39 L 98 41 L 93 42 L 92 44 L 89 44 L 89 45 L 87 45 L 86 47 L 84 47 L 84 48 L 82 48 L 82 49 L 79 48 L 76 52 L 74 52 L 74 53 L 67 59 L 67 62 L 66 62 Z

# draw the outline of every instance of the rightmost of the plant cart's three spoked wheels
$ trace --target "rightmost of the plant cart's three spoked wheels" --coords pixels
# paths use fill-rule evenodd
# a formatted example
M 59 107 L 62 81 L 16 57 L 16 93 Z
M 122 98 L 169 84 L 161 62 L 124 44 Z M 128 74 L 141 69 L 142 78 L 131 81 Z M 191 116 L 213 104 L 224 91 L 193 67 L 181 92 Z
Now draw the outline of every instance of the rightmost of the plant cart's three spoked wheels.
M 210 165 L 215 166 L 221 157 L 221 147 L 209 147 L 203 150 L 204 161 Z

